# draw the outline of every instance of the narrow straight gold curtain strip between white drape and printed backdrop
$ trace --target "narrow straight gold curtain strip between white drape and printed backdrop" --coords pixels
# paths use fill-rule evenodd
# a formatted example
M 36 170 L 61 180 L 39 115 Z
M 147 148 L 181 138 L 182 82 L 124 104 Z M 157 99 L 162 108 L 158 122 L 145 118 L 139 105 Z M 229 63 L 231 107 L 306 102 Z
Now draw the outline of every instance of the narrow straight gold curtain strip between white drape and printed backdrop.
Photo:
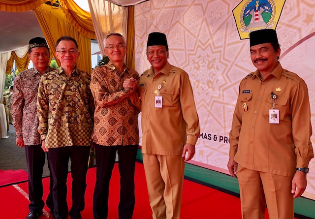
M 126 55 L 126 65 L 134 69 L 134 6 L 128 7 L 126 41 L 128 48 Z

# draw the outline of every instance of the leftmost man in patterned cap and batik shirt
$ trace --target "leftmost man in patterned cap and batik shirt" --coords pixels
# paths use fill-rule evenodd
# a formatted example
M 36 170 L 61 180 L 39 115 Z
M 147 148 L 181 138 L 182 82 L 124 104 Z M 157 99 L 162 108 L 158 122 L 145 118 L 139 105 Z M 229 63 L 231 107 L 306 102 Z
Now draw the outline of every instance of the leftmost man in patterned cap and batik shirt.
M 21 148 L 25 146 L 28 164 L 29 199 L 31 203 L 27 219 L 36 219 L 42 214 L 45 205 L 42 200 L 45 153 L 41 149 L 41 139 L 37 131 L 36 102 L 41 76 L 55 70 L 55 68 L 49 67 L 49 57 L 50 53 L 46 40 L 42 37 L 32 38 L 29 43 L 29 58 L 32 60 L 34 67 L 20 72 L 14 80 L 11 114 L 16 131 L 16 144 Z M 53 181 L 50 174 L 50 191 L 52 185 Z M 51 192 L 48 195 L 46 204 L 51 211 L 54 210 Z

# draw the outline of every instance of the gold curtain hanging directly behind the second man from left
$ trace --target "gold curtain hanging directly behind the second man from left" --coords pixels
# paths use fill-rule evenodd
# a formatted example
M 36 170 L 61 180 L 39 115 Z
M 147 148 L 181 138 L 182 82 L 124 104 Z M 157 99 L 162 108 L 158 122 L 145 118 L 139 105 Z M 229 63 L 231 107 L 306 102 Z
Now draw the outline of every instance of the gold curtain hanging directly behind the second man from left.
M 47 4 L 34 9 L 38 23 L 44 33 L 51 51 L 56 51 L 56 41 L 63 35 L 73 37 L 79 46 L 80 56 L 77 61 L 79 69 L 91 73 L 91 39 L 78 32 L 66 19 L 63 10 Z M 55 56 L 55 53 L 53 53 Z M 60 62 L 55 56 L 56 62 Z

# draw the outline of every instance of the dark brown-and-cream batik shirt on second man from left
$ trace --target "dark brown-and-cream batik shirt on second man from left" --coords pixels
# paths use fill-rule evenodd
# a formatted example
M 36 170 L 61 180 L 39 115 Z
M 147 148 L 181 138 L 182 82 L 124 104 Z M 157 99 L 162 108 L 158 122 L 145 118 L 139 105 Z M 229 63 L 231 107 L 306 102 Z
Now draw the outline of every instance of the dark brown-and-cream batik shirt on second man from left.
M 94 100 L 90 82 L 90 75 L 77 68 L 70 77 L 62 67 L 42 76 L 37 113 L 45 148 L 91 145 Z

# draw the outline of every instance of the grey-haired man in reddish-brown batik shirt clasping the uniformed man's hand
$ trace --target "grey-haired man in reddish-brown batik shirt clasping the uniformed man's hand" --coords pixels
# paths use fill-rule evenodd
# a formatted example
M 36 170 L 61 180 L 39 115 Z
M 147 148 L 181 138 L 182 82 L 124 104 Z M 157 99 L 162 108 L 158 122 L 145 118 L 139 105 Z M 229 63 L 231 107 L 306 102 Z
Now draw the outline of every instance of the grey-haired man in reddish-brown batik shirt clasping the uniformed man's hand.
M 119 156 L 121 194 L 119 219 L 131 219 L 134 209 L 134 168 L 139 143 L 138 113 L 133 105 L 139 74 L 124 63 L 126 40 L 110 33 L 104 40 L 110 62 L 92 72 L 91 90 L 95 98 L 93 141 L 96 156 L 96 183 L 93 197 L 95 219 L 108 215 L 109 181 Z

